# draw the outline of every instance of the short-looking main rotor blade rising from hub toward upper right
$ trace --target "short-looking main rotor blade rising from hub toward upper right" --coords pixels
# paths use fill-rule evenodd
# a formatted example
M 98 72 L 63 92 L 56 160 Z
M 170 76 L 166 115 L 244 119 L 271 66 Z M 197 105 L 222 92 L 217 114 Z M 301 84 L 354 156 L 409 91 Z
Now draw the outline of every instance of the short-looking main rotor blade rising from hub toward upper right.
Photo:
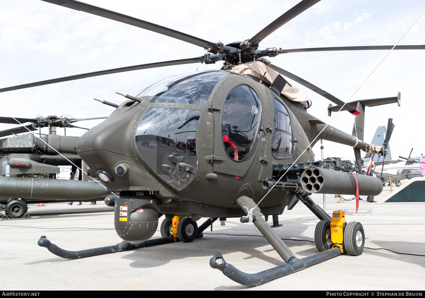
M 278 28 L 280 28 L 282 25 L 286 24 L 293 18 L 295 18 L 298 14 L 302 13 L 303 11 L 307 10 L 308 8 L 312 7 L 314 4 L 319 2 L 320 0 L 303 0 L 288 11 L 286 11 L 284 14 L 282 14 L 280 17 L 278 17 L 276 20 L 271 22 L 269 25 L 267 25 L 263 30 L 258 32 L 254 35 L 251 39 L 249 39 L 249 42 L 252 42 L 254 44 L 258 44 L 263 40 L 264 38 L 268 37 L 270 34 L 275 32 Z

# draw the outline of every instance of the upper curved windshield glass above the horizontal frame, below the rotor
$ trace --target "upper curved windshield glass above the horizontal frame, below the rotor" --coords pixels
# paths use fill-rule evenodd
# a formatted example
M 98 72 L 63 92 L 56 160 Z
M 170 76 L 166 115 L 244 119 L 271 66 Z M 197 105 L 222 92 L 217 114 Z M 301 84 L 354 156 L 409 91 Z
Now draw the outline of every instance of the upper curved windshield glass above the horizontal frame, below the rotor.
M 215 85 L 225 76 L 227 73 L 219 70 L 172 76 L 143 89 L 136 97 L 150 96 L 150 102 L 205 105 Z

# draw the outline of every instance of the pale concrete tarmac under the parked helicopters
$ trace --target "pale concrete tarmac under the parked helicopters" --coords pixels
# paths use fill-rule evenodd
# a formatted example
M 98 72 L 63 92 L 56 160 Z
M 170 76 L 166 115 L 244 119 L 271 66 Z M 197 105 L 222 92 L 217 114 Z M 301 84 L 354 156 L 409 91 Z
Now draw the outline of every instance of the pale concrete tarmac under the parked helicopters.
M 380 200 L 388 194 L 384 188 Z M 323 196 L 312 195 L 321 207 Z M 364 197 L 364 199 L 366 199 Z M 258 287 L 245 287 L 212 269 L 215 252 L 246 273 L 284 264 L 261 233 L 238 218 L 225 226 L 213 224 L 204 237 L 128 252 L 67 260 L 37 245 L 45 235 L 66 250 L 82 250 L 121 242 L 113 227 L 113 208 L 49 203 L 30 205 L 29 219 L 0 221 L 0 284 L 2 290 L 424 290 L 425 204 L 337 203 L 326 195 L 326 211 L 346 212 L 348 222 L 362 223 L 366 245 L 360 256 L 334 259 L 278 278 Z M 160 222 L 163 218 L 160 219 Z M 200 219 L 198 225 L 205 219 Z M 279 216 L 275 228 L 298 258 L 317 253 L 313 243 L 318 219 L 301 202 Z M 271 216 L 269 223 L 272 225 Z M 160 237 L 159 229 L 153 238 Z M 299 241 L 301 240 L 301 241 Z M 370 248 L 370 249 L 369 249 Z M 385 248 L 388 250 L 372 250 Z

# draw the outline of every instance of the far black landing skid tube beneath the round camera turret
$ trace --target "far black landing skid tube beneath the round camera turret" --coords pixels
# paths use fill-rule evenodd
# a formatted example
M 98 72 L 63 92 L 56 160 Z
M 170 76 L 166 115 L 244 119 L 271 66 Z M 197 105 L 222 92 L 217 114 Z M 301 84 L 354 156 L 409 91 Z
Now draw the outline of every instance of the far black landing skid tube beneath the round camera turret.
M 198 228 L 198 236 L 197 238 L 201 238 L 204 236 L 204 233 L 202 233 L 206 228 L 208 228 L 213 222 L 215 222 L 218 219 L 218 217 L 215 218 L 209 218 L 207 221 L 205 221 L 199 228 Z M 60 248 L 59 246 L 51 243 L 46 236 L 41 236 L 38 240 L 38 245 L 41 247 L 46 247 L 51 253 L 60 256 L 64 259 L 81 259 L 81 258 L 87 258 L 91 256 L 100 256 L 100 255 L 106 255 L 108 253 L 118 253 L 121 251 L 128 251 L 128 250 L 135 250 L 139 248 L 144 247 L 150 247 L 150 246 L 156 246 L 156 245 L 162 245 L 167 243 L 173 243 L 174 236 L 168 236 L 165 238 L 159 238 L 159 239 L 149 239 L 144 242 L 140 243 L 129 243 L 126 241 L 122 241 L 121 243 L 118 243 L 116 245 L 111 246 L 104 246 L 104 247 L 96 247 L 96 248 L 90 248 L 85 250 L 65 250 Z

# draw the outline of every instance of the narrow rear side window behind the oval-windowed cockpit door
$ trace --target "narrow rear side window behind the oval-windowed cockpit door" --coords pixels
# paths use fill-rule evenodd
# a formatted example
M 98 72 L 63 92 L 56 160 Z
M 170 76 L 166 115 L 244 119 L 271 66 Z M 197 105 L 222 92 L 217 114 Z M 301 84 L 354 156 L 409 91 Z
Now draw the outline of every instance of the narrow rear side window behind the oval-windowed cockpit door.
M 275 158 L 287 158 L 292 155 L 291 119 L 285 106 L 273 98 L 274 121 L 272 133 L 272 154 Z

